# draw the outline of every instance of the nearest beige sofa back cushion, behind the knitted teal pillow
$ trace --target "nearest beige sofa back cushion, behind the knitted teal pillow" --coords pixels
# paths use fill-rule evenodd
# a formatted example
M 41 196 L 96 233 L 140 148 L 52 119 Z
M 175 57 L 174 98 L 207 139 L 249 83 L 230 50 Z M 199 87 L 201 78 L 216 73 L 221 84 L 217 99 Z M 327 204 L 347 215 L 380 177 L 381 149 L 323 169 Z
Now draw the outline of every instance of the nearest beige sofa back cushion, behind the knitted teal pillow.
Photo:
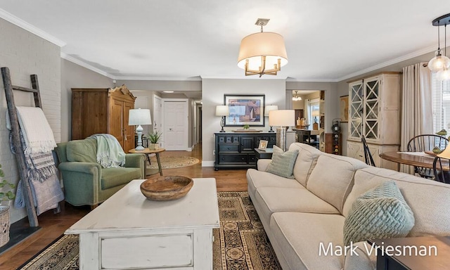
M 414 213 L 415 224 L 409 237 L 450 235 L 450 185 L 390 169 L 367 167 L 356 172 L 354 187 L 345 202 L 348 215 L 356 198 L 384 181 L 394 180 Z

